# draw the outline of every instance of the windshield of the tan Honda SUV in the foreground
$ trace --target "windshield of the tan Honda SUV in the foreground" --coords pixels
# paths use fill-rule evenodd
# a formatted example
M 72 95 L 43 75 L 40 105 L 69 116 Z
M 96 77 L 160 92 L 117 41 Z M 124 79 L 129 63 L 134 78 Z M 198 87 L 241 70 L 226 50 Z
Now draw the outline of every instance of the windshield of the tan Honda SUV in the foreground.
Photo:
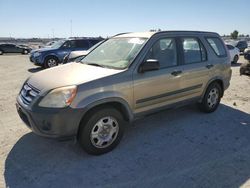
M 94 49 L 81 62 L 124 69 L 133 61 L 145 41 L 145 38 L 112 38 Z

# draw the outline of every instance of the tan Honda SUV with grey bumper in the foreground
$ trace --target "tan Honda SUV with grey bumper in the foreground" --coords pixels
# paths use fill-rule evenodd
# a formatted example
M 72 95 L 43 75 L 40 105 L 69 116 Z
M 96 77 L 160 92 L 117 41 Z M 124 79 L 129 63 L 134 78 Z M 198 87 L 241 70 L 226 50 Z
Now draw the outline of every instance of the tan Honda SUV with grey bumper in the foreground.
M 36 134 L 76 136 L 98 155 L 111 151 L 136 117 L 190 102 L 215 111 L 230 78 L 230 57 L 216 33 L 126 33 L 79 63 L 34 74 L 16 106 Z

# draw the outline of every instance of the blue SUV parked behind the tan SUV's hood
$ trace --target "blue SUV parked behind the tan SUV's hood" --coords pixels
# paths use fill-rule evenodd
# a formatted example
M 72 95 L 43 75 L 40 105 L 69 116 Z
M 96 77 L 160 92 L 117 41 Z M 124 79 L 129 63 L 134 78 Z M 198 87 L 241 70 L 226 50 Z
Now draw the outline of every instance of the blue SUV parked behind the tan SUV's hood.
M 88 50 L 103 38 L 70 38 L 55 42 L 50 48 L 41 48 L 30 53 L 30 61 L 44 68 L 57 66 L 72 51 Z

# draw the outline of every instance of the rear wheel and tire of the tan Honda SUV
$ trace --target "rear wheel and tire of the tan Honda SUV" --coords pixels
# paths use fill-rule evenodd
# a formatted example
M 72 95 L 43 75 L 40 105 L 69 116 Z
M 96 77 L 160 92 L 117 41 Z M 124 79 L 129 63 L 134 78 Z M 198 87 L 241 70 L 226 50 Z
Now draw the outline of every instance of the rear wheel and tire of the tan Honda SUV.
M 206 90 L 202 102 L 198 104 L 200 110 L 206 113 L 214 112 L 220 104 L 221 97 L 221 86 L 217 82 L 211 83 Z

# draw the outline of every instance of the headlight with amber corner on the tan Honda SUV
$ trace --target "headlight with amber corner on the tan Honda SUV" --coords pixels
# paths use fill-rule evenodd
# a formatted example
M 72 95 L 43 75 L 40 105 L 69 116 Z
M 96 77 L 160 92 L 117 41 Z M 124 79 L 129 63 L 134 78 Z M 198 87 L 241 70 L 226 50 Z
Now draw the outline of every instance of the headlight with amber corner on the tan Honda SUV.
M 39 103 L 41 107 L 64 108 L 69 106 L 76 96 L 77 87 L 68 86 L 50 91 Z

